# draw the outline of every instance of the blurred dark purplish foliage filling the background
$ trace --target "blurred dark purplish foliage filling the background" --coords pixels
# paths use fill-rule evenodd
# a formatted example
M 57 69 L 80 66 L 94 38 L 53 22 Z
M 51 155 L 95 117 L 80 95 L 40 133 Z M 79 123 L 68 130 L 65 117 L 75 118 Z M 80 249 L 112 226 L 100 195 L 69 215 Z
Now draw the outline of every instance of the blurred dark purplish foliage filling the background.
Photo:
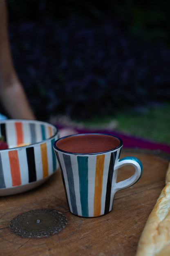
M 113 2 L 8 1 L 13 61 L 38 119 L 169 101 L 169 5 Z

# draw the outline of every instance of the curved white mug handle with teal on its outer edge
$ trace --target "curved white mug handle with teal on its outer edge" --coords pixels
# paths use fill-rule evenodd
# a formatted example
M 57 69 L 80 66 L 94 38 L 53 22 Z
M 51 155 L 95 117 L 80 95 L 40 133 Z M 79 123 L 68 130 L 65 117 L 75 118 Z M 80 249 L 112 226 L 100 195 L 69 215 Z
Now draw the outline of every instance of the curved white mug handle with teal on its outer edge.
M 125 179 L 124 181 L 119 181 L 114 184 L 114 190 L 119 191 L 124 188 L 130 187 L 134 185 L 142 176 L 143 173 L 143 166 L 141 161 L 138 158 L 135 158 L 133 156 L 127 156 L 124 158 L 121 158 L 118 162 L 118 164 L 114 167 L 114 170 L 119 169 L 120 167 L 123 167 L 124 165 L 132 165 L 135 168 L 135 172 L 132 176 Z

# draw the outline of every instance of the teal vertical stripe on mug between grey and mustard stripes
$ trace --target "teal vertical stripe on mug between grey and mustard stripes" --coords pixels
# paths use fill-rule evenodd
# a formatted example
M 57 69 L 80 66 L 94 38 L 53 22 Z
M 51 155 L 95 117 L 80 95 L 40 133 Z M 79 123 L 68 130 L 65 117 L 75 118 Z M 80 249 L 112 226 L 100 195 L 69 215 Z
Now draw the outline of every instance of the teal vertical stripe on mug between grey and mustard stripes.
M 82 216 L 89 217 L 88 208 L 88 156 L 77 156 Z

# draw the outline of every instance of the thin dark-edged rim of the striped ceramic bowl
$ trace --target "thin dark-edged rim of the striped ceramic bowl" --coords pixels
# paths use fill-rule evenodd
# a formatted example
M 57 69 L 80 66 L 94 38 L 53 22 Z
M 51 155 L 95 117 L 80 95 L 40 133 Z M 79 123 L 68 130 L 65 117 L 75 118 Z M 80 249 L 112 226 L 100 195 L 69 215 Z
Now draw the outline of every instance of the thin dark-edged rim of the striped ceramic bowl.
M 42 124 L 47 124 L 49 126 L 51 126 L 52 128 L 55 128 L 56 129 L 56 132 L 54 133 L 53 136 L 47 138 L 47 139 L 43 139 L 42 141 L 40 142 L 35 142 L 35 143 L 31 143 L 31 144 L 28 144 L 28 145 L 25 145 L 25 146 L 17 146 L 17 147 L 12 147 L 12 148 L 9 148 L 9 149 L 0 149 L 0 152 L 2 151 L 10 151 L 10 150 L 13 150 L 13 149 L 16 149 L 16 150 L 20 150 L 20 148 L 25 148 L 25 147 L 31 147 L 33 145 L 38 145 L 38 144 L 42 144 L 42 143 L 45 143 L 47 142 L 48 140 L 51 140 L 53 138 L 56 137 L 56 135 L 58 134 L 59 135 L 59 128 L 52 124 L 52 123 L 49 123 L 47 121 L 40 121 L 40 120 L 35 120 L 35 119 L 5 119 L 5 120 L 1 120 L 0 121 L 0 124 L 1 123 L 13 123 L 13 122 L 16 122 L 16 121 L 20 121 L 20 122 L 26 122 L 26 123 L 42 123 Z

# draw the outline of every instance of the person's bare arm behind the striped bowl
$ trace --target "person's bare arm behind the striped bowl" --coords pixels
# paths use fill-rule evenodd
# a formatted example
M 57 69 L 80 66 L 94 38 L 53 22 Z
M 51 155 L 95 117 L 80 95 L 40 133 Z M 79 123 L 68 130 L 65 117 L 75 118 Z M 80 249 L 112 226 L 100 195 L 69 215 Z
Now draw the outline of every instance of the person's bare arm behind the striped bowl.
M 0 0 L 0 101 L 10 118 L 35 119 L 13 67 L 7 33 L 5 0 Z

